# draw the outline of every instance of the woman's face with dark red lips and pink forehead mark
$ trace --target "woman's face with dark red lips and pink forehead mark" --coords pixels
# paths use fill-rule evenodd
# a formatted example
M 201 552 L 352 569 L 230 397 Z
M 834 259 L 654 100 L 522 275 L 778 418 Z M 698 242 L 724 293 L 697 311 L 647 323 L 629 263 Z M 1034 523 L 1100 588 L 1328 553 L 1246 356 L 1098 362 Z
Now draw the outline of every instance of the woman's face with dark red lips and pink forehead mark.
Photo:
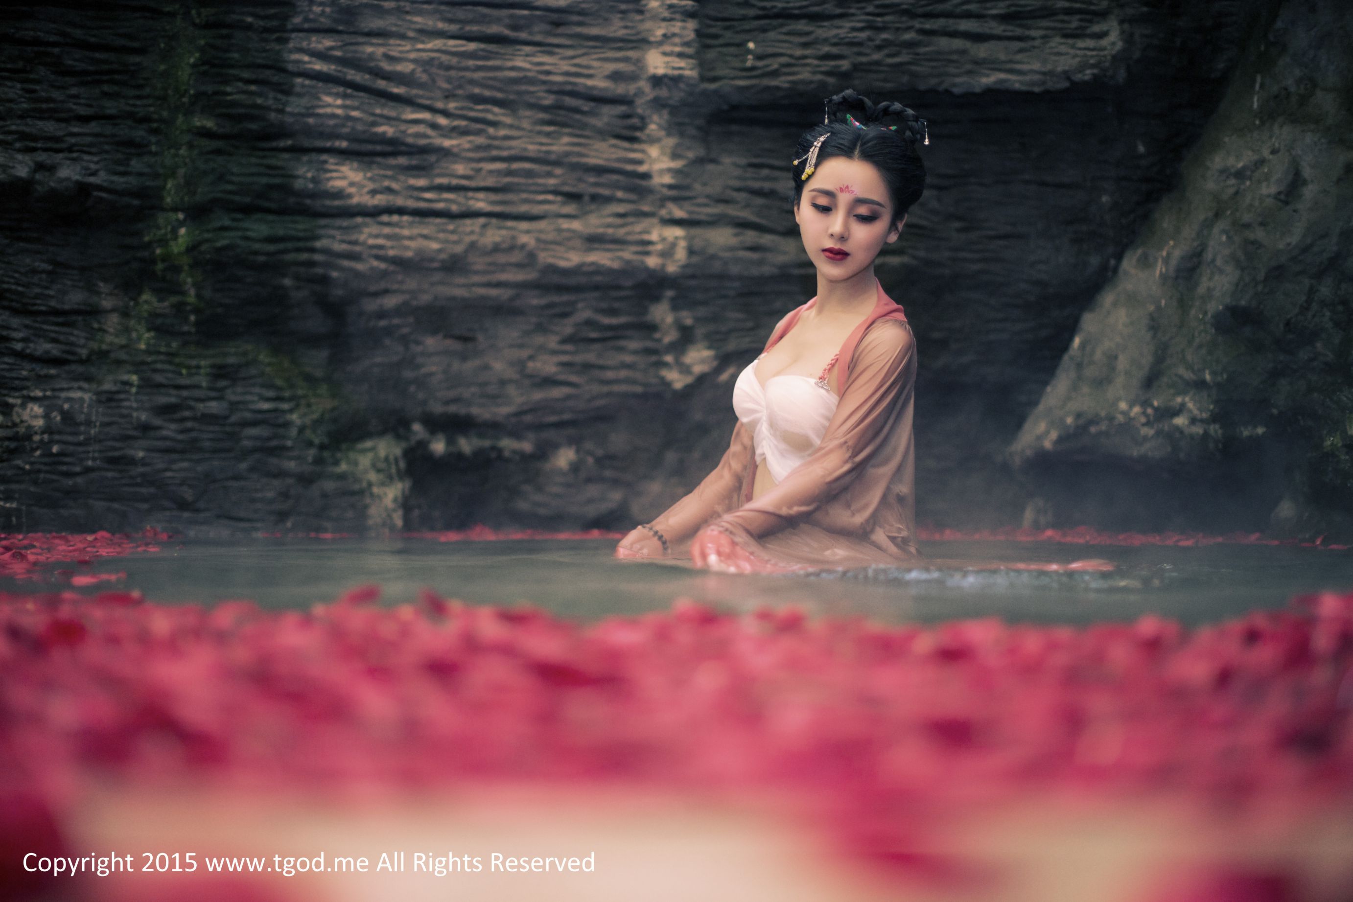
M 804 250 L 831 281 L 859 275 L 902 234 L 893 224 L 893 200 L 871 162 L 831 157 L 813 170 L 794 207 Z

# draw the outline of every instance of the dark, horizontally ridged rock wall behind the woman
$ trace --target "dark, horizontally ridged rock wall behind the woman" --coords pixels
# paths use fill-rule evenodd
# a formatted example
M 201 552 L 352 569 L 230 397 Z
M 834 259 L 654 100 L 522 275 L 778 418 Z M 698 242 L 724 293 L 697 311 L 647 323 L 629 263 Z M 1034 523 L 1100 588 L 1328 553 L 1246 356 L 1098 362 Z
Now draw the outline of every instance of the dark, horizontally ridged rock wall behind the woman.
M 931 123 L 878 264 L 920 519 L 1017 519 L 1005 449 L 1252 5 L 0 14 L 0 529 L 653 517 L 813 293 L 789 158 L 844 87 Z

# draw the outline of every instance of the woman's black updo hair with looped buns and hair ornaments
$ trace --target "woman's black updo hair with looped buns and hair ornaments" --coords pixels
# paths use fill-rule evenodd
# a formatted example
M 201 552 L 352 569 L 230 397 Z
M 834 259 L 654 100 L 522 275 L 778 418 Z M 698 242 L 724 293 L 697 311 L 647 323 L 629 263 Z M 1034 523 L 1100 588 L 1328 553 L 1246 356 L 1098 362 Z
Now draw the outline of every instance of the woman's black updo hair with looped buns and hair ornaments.
M 798 139 L 790 170 L 794 179 L 794 206 L 797 207 L 804 196 L 804 183 L 808 181 L 804 172 L 808 169 L 809 151 L 813 143 L 823 138 L 815 165 L 820 166 L 831 157 L 850 157 L 874 164 L 893 196 L 896 223 L 925 191 L 925 164 L 916 151 L 916 143 L 925 135 L 925 120 L 900 103 L 874 105 L 854 91 L 843 91 L 829 97 L 827 122 L 813 126 Z

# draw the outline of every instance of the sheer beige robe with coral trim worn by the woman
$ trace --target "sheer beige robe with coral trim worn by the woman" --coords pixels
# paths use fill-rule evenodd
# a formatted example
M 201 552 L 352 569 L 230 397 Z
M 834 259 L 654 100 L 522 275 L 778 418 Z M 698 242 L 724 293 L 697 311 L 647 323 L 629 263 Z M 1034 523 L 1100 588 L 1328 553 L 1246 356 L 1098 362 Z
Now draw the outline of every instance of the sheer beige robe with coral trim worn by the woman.
M 816 298 L 792 311 L 766 350 Z M 718 467 L 652 521 L 674 556 L 705 526 L 755 557 L 787 567 L 905 564 L 916 552 L 912 408 L 916 339 L 902 308 L 878 288 L 874 310 L 847 337 L 836 365 L 840 400 L 821 444 L 778 485 L 751 500 L 752 434 L 741 422 Z

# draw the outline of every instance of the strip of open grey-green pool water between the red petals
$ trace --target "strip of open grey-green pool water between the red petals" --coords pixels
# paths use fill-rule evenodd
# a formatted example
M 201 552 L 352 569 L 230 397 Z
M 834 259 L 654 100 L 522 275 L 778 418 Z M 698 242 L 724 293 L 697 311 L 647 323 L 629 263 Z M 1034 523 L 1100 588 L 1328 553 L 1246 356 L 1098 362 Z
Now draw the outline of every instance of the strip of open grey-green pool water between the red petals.
M 1283 607 L 1299 592 L 1353 587 L 1353 552 L 1292 546 L 927 542 L 917 567 L 813 576 L 735 576 L 676 561 L 617 561 L 613 548 L 613 540 L 199 540 L 96 561 L 93 569 L 126 571 L 116 588 L 141 590 L 157 602 L 253 599 L 265 607 L 307 607 L 375 583 L 386 603 L 411 602 L 428 587 L 448 598 L 532 603 L 579 619 L 667 610 L 674 598 L 689 596 L 728 610 L 800 604 L 810 614 L 894 622 L 996 615 L 1084 623 L 1155 613 L 1200 623 Z M 1085 557 L 1109 560 L 1116 569 L 976 569 Z

